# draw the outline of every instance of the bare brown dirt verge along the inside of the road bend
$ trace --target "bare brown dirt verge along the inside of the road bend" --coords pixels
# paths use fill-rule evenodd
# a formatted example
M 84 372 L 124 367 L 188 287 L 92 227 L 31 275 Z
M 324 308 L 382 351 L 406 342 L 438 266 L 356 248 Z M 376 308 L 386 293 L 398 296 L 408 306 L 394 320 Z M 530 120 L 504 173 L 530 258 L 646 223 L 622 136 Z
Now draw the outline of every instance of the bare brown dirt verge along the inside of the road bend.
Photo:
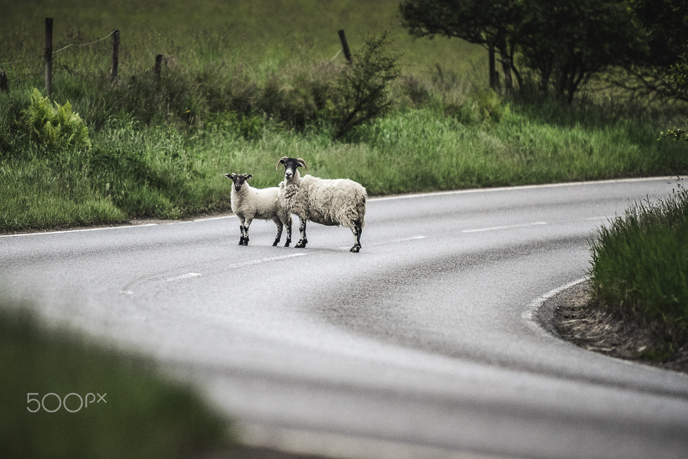
M 648 353 L 660 350 L 663 344 L 658 333 L 647 325 L 632 323 L 612 312 L 591 305 L 588 282 L 583 282 L 550 301 L 555 301 L 552 328 L 559 337 L 581 348 L 661 367 L 665 370 L 688 373 L 688 347 L 668 359 L 649 359 Z

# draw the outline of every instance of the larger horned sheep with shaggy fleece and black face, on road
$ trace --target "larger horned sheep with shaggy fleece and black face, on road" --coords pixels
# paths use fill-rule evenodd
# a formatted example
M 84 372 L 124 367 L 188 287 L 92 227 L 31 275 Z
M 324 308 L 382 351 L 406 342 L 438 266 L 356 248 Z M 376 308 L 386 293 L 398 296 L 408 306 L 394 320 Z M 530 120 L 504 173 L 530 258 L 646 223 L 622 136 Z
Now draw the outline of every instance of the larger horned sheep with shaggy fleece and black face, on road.
M 294 246 L 305 247 L 308 239 L 305 235 L 306 222 L 346 226 L 354 233 L 354 246 L 350 252 L 361 250 L 361 232 L 365 224 L 365 200 L 367 194 L 360 183 L 340 179 L 323 179 L 312 175 L 301 177 L 299 167 L 308 166 L 301 158 L 284 156 L 277 162 L 284 164 L 284 180 L 279 184 L 277 202 L 283 211 L 297 215 L 300 220 L 301 239 Z

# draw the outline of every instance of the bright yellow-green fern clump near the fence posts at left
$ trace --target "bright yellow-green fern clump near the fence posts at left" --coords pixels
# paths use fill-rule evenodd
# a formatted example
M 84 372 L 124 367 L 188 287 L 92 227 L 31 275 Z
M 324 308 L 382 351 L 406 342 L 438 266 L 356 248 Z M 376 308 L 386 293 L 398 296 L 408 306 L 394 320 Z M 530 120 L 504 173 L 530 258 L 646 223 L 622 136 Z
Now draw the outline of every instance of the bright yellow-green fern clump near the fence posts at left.
M 88 128 L 79 114 L 72 110 L 72 105 L 68 101 L 64 105 L 53 104 L 34 88 L 31 104 L 25 115 L 28 128 L 36 142 L 52 149 L 91 148 Z

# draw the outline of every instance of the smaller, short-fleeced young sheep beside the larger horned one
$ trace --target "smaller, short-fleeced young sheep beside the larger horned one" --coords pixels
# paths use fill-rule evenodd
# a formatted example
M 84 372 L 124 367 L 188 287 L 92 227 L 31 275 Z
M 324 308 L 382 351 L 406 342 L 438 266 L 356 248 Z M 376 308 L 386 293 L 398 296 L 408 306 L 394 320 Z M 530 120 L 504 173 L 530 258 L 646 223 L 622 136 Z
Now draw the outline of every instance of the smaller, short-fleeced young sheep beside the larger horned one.
M 224 176 L 234 182 L 234 186 L 232 186 L 232 211 L 241 220 L 239 245 L 248 246 L 248 227 L 252 220 L 257 218 L 259 220 L 272 220 L 277 225 L 277 235 L 275 242 L 272 243 L 273 247 L 279 243 L 279 239 L 282 237 L 282 228 L 286 226 L 287 240 L 284 246 L 288 247 L 292 242 L 292 216 L 281 211 L 277 205 L 277 193 L 279 191 L 277 186 L 263 189 L 253 188 L 247 182 L 253 175 L 248 173 L 226 173 Z

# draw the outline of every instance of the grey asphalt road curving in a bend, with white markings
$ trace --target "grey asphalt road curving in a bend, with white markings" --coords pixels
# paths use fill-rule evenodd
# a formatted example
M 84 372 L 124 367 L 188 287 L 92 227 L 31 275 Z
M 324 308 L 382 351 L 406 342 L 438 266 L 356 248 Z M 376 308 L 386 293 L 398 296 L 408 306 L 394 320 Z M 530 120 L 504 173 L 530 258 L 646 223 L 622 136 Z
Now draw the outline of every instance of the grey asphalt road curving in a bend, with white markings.
M 656 178 L 369 201 L 346 228 L 270 246 L 255 222 L 0 237 L 3 288 L 52 321 L 154 356 L 246 441 L 352 458 L 680 458 L 688 377 L 560 341 L 543 300 L 579 281 L 596 228 Z

